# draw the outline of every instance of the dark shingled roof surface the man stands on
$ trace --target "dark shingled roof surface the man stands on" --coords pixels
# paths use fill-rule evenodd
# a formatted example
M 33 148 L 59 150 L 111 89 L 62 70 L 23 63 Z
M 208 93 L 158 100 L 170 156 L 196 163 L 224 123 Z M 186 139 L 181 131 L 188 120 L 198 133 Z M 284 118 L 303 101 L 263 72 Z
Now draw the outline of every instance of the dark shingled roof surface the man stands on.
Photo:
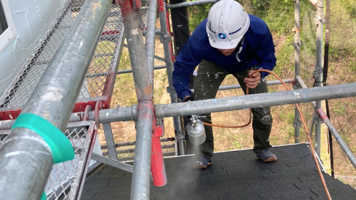
M 308 144 L 273 147 L 278 161 L 263 163 L 251 149 L 215 153 L 207 169 L 194 156 L 164 159 L 167 184 L 151 184 L 150 199 L 327 199 Z M 105 166 L 90 177 L 81 199 L 130 199 L 131 176 Z M 324 174 L 333 199 L 356 199 L 356 190 Z

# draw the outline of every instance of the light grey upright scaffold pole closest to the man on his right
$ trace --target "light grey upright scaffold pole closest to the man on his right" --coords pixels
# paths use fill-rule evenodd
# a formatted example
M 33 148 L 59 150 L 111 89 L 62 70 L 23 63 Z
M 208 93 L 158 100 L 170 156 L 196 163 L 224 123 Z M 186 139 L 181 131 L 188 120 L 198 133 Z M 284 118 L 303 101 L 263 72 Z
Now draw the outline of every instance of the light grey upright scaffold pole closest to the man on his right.
M 300 0 L 295 0 L 294 3 L 294 77 L 300 75 Z M 295 88 L 299 87 L 298 81 L 295 81 Z M 300 114 L 298 108 L 294 110 L 294 142 L 299 143 L 300 127 Z

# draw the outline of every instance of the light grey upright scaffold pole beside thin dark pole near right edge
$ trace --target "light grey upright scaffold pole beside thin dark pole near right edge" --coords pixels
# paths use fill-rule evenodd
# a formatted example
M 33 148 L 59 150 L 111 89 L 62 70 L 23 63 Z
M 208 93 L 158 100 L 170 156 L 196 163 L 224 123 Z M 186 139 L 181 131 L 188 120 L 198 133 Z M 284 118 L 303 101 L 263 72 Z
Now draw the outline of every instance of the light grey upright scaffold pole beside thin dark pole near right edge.
M 323 32 L 324 32 L 324 0 L 318 0 L 316 9 L 316 65 L 315 65 L 315 83 L 317 87 L 323 86 Z M 315 113 L 321 107 L 321 101 L 315 102 Z M 321 120 L 317 118 L 315 121 L 315 152 L 320 157 L 321 144 Z

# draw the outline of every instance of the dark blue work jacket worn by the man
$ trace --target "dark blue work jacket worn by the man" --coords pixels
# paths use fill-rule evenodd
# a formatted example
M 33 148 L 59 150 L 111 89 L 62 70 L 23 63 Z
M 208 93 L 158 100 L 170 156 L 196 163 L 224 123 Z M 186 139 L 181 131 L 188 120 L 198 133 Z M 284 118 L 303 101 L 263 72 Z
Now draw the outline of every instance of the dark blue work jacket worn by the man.
M 239 73 L 255 65 L 257 68 L 273 70 L 276 56 L 271 32 L 262 19 L 251 14 L 248 16 L 250 26 L 242 51 L 238 53 L 239 49 L 236 48 L 230 56 L 224 56 L 217 48 L 210 46 L 206 19 L 201 21 L 174 62 L 173 86 L 180 99 L 192 95 L 188 86 L 189 77 L 203 59 L 216 63 L 229 73 Z M 261 77 L 266 75 L 268 73 L 261 73 Z

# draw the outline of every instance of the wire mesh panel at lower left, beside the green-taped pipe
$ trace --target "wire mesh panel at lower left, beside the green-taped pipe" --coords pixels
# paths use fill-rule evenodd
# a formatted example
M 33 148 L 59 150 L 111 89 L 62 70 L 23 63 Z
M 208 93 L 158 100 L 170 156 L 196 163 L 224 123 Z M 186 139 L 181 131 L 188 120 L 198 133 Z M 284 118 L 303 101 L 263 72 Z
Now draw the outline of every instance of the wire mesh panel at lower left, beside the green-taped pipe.
M 48 200 L 74 199 L 80 195 L 95 140 L 95 122 L 69 125 L 65 134 L 75 149 L 75 158 L 53 165 L 45 188 Z

